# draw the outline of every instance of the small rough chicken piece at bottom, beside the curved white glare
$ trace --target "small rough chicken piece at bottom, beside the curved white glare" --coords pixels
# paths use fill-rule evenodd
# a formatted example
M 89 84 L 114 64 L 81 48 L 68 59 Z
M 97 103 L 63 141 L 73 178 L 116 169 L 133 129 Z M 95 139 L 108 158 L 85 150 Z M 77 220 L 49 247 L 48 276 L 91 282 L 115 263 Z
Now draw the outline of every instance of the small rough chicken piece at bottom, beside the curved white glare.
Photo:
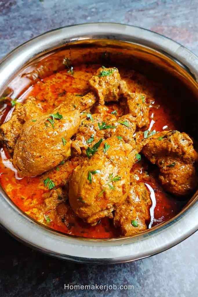
M 121 228 L 123 236 L 130 236 L 147 229 L 152 201 L 144 183 L 133 182 L 126 201 L 115 207 L 113 223 Z

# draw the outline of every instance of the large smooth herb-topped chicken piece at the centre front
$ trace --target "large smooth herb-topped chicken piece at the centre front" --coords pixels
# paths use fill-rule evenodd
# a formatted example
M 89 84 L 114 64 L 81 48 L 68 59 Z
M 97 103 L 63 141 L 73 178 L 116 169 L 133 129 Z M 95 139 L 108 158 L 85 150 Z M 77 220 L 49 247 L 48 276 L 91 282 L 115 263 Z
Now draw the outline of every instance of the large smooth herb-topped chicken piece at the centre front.
M 91 225 L 102 217 L 113 217 L 115 205 L 123 203 L 130 186 L 128 155 L 132 147 L 117 137 L 99 144 L 98 151 L 74 169 L 69 182 L 73 211 Z

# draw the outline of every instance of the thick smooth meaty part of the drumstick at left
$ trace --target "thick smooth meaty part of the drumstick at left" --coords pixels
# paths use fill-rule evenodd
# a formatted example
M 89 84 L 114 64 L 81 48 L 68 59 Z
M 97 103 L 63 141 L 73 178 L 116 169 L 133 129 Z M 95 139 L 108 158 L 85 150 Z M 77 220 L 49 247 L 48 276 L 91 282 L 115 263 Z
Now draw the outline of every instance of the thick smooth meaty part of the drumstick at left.
M 70 138 L 80 125 L 80 112 L 60 112 L 62 118 L 43 115 L 24 124 L 15 146 L 13 165 L 20 176 L 37 176 L 57 166 L 71 155 Z

